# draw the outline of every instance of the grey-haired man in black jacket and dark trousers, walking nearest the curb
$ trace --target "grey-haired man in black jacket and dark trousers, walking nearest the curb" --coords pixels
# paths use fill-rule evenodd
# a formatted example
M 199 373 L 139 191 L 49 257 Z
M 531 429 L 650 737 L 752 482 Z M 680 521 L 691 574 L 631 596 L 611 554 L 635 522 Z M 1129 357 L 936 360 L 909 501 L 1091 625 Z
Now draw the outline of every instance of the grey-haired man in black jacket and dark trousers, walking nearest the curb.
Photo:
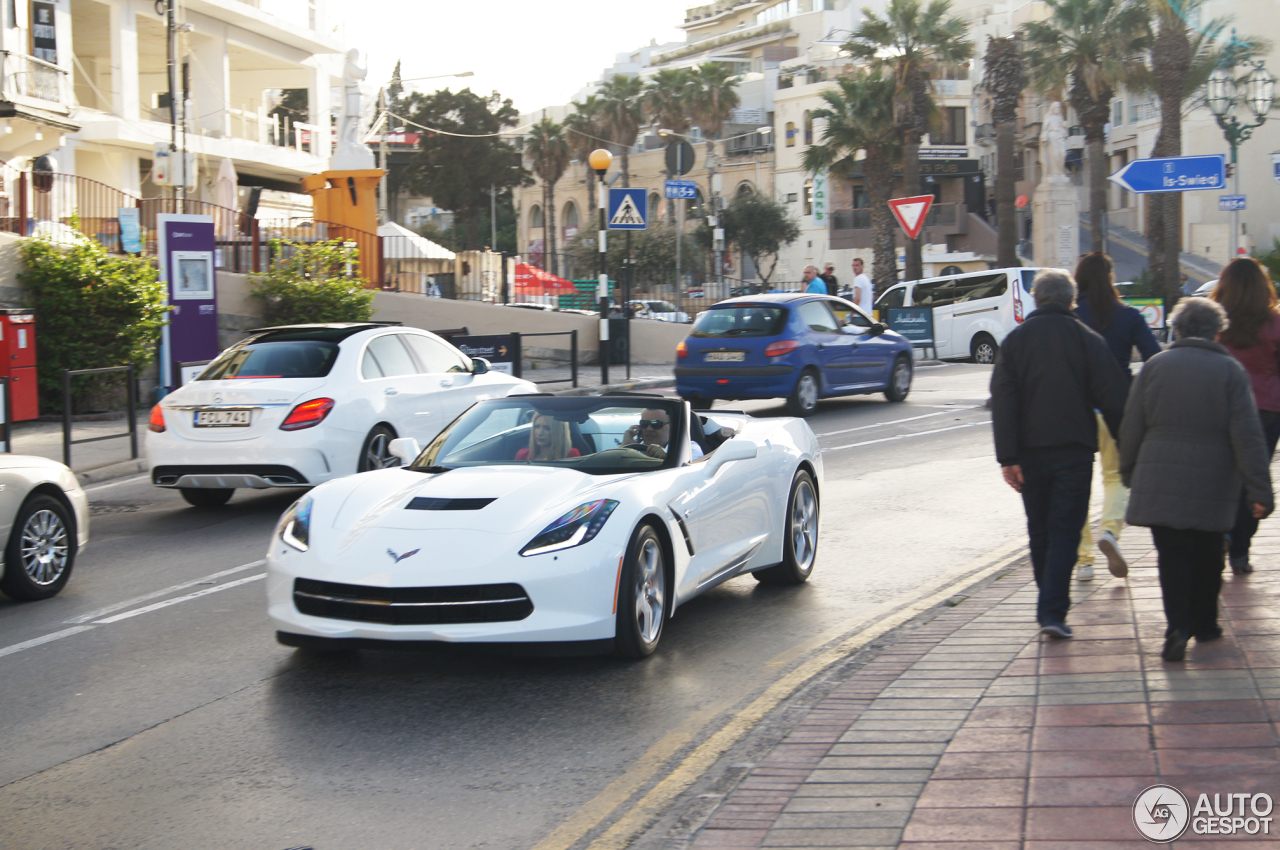
M 1128 381 L 1106 342 L 1075 317 L 1075 282 L 1046 269 L 1032 284 L 1036 310 L 1000 348 L 991 421 L 1005 481 L 1021 493 L 1043 634 L 1070 638 L 1071 567 L 1089 512 L 1094 411 L 1120 430 Z

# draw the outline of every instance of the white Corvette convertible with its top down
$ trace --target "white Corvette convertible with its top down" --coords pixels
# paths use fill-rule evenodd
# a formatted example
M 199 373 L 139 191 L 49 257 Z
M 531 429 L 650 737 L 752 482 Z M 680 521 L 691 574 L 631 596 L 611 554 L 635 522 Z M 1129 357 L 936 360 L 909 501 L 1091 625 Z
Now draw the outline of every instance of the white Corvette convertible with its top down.
M 266 556 L 276 638 L 641 658 L 682 603 L 728 579 L 805 581 L 817 438 L 799 419 L 712 417 L 639 393 L 513 396 L 421 453 L 396 440 L 412 463 L 321 484 L 280 518 Z

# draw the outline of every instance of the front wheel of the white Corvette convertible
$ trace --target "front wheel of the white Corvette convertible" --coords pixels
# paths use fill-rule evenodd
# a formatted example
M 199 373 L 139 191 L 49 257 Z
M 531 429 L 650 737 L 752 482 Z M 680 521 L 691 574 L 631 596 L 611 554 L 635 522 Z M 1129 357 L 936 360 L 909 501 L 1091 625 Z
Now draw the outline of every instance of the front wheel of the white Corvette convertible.
M 658 648 L 667 622 L 667 572 L 662 540 L 653 526 L 631 535 L 618 580 L 618 614 L 613 638 L 621 658 L 646 658 Z

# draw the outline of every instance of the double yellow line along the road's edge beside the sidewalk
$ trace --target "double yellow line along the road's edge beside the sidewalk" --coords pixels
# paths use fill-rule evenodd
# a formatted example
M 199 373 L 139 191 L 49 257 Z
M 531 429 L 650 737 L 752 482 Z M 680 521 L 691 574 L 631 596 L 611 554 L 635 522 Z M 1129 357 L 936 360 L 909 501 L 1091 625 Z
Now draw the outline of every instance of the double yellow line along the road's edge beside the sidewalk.
M 701 777 L 731 746 L 733 746 L 733 744 L 750 732 L 765 714 L 773 710 L 778 703 L 790 696 L 801 685 L 841 658 L 861 649 L 881 635 L 897 629 L 922 612 L 928 611 L 945 599 L 952 597 L 956 590 L 963 590 L 964 588 L 968 588 L 978 581 L 982 581 L 987 576 L 1006 568 L 1014 561 L 1023 557 L 1025 547 L 1025 541 L 1019 541 L 1012 547 L 1004 547 L 995 554 L 995 562 L 992 562 L 993 556 L 991 554 L 978 558 L 975 563 L 986 566 L 979 566 L 973 572 L 966 571 L 963 577 L 956 579 L 942 590 L 924 597 L 923 599 L 918 599 L 916 602 L 909 603 L 896 611 L 886 612 L 883 618 L 874 622 L 874 625 L 859 630 L 859 632 L 849 640 L 836 644 L 835 646 L 813 655 L 801 663 L 799 667 L 767 687 L 760 696 L 758 696 L 741 712 L 731 717 L 728 722 L 717 730 L 705 742 L 694 749 L 694 751 L 677 764 L 675 769 L 663 777 L 648 794 L 640 798 L 640 800 L 637 800 L 636 804 L 622 815 L 622 818 L 609 827 L 604 835 L 594 841 L 590 845 L 590 850 L 621 850 L 622 847 L 626 847 L 635 835 L 644 830 L 663 806 L 668 805 L 676 796 L 698 781 L 698 778 Z M 873 613 L 864 618 L 864 621 L 874 620 L 877 614 Z M 819 649 L 820 646 L 824 646 L 832 640 L 836 640 L 846 634 L 849 634 L 847 623 L 828 630 L 805 641 L 804 644 L 800 644 L 799 646 L 787 649 L 778 658 L 771 661 L 769 666 L 785 663 L 790 658 Z M 677 728 L 668 732 L 644 755 L 641 755 L 626 773 L 611 782 L 593 800 L 575 812 L 568 821 L 562 823 L 554 832 L 538 842 L 532 850 L 567 850 L 573 846 L 582 838 L 582 836 L 589 833 L 605 818 L 608 818 L 608 815 L 612 814 L 620 805 L 631 799 L 631 796 L 640 790 L 640 787 L 644 786 L 660 769 L 660 767 L 671 759 L 672 755 L 687 745 L 701 730 L 701 727 L 723 708 L 723 705 L 717 705 L 703 709 L 681 723 Z

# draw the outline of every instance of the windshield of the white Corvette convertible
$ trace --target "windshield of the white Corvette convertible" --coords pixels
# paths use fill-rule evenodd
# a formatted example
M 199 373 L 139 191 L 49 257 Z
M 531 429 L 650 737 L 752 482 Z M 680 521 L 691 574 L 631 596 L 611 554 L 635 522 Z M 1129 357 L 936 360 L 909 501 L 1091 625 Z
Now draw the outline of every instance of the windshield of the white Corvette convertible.
M 410 466 L 558 466 L 617 475 L 675 466 L 681 406 L 669 398 L 517 396 L 480 402 Z

